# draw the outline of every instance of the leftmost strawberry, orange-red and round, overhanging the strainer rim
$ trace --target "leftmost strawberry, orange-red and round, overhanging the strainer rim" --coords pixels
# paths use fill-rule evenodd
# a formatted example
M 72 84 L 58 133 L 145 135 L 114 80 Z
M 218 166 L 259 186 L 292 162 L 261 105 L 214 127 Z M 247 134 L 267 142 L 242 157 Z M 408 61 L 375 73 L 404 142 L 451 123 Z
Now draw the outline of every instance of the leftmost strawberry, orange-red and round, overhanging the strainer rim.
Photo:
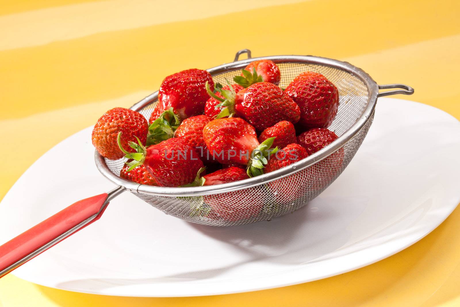
M 117 144 L 118 133 L 122 132 L 121 145 L 127 147 L 129 141 L 136 141 L 138 137 L 143 144 L 147 137 L 147 120 L 133 110 L 114 108 L 104 113 L 92 129 L 92 145 L 101 156 L 116 160 L 125 154 Z M 129 151 L 134 152 L 133 149 Z

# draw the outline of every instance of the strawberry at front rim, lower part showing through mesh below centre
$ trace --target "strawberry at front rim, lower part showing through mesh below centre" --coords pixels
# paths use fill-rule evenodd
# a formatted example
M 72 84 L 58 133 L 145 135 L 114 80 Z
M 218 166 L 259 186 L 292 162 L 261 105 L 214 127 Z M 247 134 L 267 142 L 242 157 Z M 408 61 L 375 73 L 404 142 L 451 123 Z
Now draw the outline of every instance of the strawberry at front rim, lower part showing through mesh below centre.
M 207 174 L 203 178 L 205 179 L 204 185 L 220 185 L 249 177 L 244 169 L 229 167 Z M 253 190 L 248 189 L 217 195 L 205 195 L 203 200 L 221 218 L 228 221 L 248 219 L 259 214 L 263 207 L 261 197 L 256 197 L 253 194 Z

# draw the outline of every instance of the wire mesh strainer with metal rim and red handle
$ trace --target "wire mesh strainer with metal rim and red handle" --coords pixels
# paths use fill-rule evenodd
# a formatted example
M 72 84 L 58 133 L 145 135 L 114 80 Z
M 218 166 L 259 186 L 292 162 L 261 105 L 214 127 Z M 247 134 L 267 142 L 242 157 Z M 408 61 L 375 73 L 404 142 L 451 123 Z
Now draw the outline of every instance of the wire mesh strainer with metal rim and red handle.
M 247 53 L 248 59 L 238 60 L 242 53 Z M 225 84 L 258 59 L 270 59 L 278 65 L 280 87 L 287 87 L 304 71 L 319 72 L 332 81 L 339 91 L 340 104 L 328 129 L 339 138 L 286 168 L 246 180 L 201 187 L 158 187 L 124 180 L 119 174 L 126 159 L 104 159 L 96 151 L 99 171 L 119 187 L 74 203 L 0 246 L 0 276 L 97 220 L 109 201 L 125 190 L 166 214 L 204 225 L 241 225 L 293 212 L 318 196 L 347 167 L 368 133 L 378 97 L 414 93 L 411 87 L 403 84 L 379 86 L 367 73 L 349 63 L 313 56 L 251 58 L 251 52 L 245 49 L 236 53 L 233 63 L 208 71 L 214 82 Z M 391 88 L 400 89 L 379 93 L 379 89 Z M 149 118 L 157 97 L 158 92 L 155 92 L 131 109 Z M 219 214 L 213 208 L 219 208 Z M 72 222 L 69 223 L 69 219 Z

